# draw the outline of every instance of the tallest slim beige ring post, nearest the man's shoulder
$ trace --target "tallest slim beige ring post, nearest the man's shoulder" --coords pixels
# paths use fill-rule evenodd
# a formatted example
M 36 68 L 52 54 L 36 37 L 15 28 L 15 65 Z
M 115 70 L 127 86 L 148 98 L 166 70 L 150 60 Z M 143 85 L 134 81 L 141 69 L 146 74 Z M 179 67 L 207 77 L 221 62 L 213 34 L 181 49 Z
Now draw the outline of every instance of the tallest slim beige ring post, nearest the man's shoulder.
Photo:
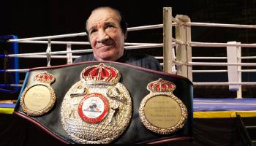
M 172 49 L 172 8 L 163 8 L 163 56 L 164 72 L 173 73 L 173 49 Z

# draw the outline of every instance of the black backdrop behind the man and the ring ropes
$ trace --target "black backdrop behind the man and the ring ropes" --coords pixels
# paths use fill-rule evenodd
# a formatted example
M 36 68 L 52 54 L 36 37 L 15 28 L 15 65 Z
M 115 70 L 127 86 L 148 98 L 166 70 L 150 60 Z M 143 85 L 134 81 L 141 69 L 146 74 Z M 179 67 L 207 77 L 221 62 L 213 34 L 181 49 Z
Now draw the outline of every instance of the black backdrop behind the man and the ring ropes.
M 82 1 L 82 0 L 45 0 L 45 1 L 0 1 L 0 35 L 16 35 L 18 38 L 43 37 L 59 34 L 73 34 L 85 31 L 86 18 L 95 7 L 110 6 L 119 9 L 126 18 L 128 27 L 148 26 L 162 23 L 162 8 L 172 7 L 173 17 L 188 15 L 192 22 L 256 24 L 256 0 L 158 0 L 158 1 Z M 173 31 L 174 33 L 174 31 Z M 53 39 L 59 40 L 59 39 Z M 67 41 L 87 41 L 86 37 L 61 39 Z M 256 29 L 192 27 L 193 42 L 255 43 Z M 131 31 L 127 42 L 162 42 L 162 29 Z M 44 52 L 46 45 L 19 45 L 20 53 Z M 90 46 L 72 46 L 73 49 L 86 49 Z M 64 45 L 53 45 L 52 51 L 65 50 Z M 0 49 L 4 53 L 3 47 Z M 133 50 L 132 50 L 133 51 Z M 162 48 L 136 50 L 150 55 L 162 55 Z M 193 56 L 225 56 L 225 47 L 193 47 Z M 255 48 L 243 48 L 242 55 L 256 55 Z M 160 60 L 161 62 L 161 60 Z M 255 62 L 243 61 L 243 62 Z M 1 64 L 4 61 L 1 59 Z M 66 64 L 65 60 L 52 60 L 52 65 Z M 20 69 L 46 66 L 46 59 L 20 58 Z M 2 68 L 2 67 L 1 67 Z M 210 69 L 193 67 L 193 69 Z M 226 69 L 226 67 L 214 67 Z M 243 69 L 255 69 L 243 67 Z M 1 74 L 1 83 L 8 82 Z M 24 74 L 20 74 L 23 80 Z M 194 74 L 195 82 L 227 82 L 227 74 Z M 256 74 L 243 74 L 243 81 L 256 82 Z M 255 97 L 254 86 L 243 87 L 244 97 Z M 9 98 L 10 94 L 1 93 L 0 98 Z M 12 95 L 17 98 L 18 93 Z M 235 92 L 227 86 L 195 87 L 195 97 L 234 97 Z

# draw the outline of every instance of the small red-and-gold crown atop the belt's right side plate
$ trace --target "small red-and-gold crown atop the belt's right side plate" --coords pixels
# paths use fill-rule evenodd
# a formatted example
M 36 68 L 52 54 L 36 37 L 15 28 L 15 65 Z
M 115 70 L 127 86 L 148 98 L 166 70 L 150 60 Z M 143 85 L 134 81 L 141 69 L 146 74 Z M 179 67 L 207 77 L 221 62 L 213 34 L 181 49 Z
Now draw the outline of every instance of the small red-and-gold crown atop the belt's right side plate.
M 174 85 L 173 82 L 162 80 L 162 78 L 159 78 L 157 81 L 150 82 L 147 85 L 148 91 L 152 92 L 172 92 L 175 88 L 176 85 Z

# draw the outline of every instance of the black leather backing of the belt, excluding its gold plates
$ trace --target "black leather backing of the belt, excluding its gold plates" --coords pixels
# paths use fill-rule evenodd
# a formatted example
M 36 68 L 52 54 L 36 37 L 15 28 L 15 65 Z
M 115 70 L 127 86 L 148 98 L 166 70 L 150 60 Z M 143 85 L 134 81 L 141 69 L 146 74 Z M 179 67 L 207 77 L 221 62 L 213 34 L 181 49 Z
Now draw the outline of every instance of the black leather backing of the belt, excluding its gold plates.
M 34 82 L 34 76 L 40 71 L 47 71 L 49 74 L 53 74 L 55 82 L 50 86 L 56 93 L 56 103 L 54 106 L 45 113 L 39 116 L 29 116 L 20 107 L 18 101 L 15 107 L 15 115 L 26 118 L 31 123 L 39 126 L 48 134 L 56 137 L 65 143 L 76 143 L 70 139 L 67 135 L 64 127 L 61 124 L 61 103 L 65 94 L 72 88 L 76 82 L 80 80 L 80 73 L 88 66 L 98 65 L 100 62 L 91 61 L 83 62 L 72 65 L 64 66 L 51 66 L 45 68 L 31 69 L 27 73 L 27 80 L 23 85 L 23 88 L 31 85 Z M 122 85 L 129 91 L 132 98 L 132 118 L 129 121 L 129 125 L 118 138 L 112 143 L 116 144 L 131 144 L 131 143 L 157 143 L 157 142 L 169 142 L 173 139 L 191 139 L 192 138 L 192 97 L 193 97 L 193 85 L 187 78 L 174 74 L 168 74 L 165 72 L 157 72 L 150 69 L 143 69 L 137 66 L 131 66 L 127 64 L 121 64 L 116 62 L 104 61 L 102 62 L 107 66 L 112 66 L 121 73 Z M 183 128 L 172 134 L 157 134 L 148 130 L 140 121 L 139 107 L 142 99 L 148 95 L 147 85 L 149 82 L 155 80 L 167 80 L 173 82 L 176 85 L 173 94 L 180 99 L 187 107 L 187 121 L 184 123 Z M 23 92 L 23 91 L 21 91 Z

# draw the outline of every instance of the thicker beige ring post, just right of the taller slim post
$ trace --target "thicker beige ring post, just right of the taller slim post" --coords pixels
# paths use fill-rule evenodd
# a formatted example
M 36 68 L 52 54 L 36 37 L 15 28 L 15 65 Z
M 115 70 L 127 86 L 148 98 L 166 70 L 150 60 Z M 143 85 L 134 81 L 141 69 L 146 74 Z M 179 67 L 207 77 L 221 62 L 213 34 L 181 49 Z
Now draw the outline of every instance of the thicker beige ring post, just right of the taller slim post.
M 176 19 L 181 21 L 178 23 L 176 30 L 176 39 L 183 42 L 183 44 L 176 45 L 176 60 L 187 64 L 188 62 L 192 62 L 192 50 L 191 46 L 187 45 L 187 42 L 191 42 L 191 27 L 185 26 L 183 23 L 189 23 L 190 18 L 186 15 L 176 15 Z M 192 66 L 182 65 L 177 66 L 177 74 L 187 77 L 190 81 L 192 78 Z

